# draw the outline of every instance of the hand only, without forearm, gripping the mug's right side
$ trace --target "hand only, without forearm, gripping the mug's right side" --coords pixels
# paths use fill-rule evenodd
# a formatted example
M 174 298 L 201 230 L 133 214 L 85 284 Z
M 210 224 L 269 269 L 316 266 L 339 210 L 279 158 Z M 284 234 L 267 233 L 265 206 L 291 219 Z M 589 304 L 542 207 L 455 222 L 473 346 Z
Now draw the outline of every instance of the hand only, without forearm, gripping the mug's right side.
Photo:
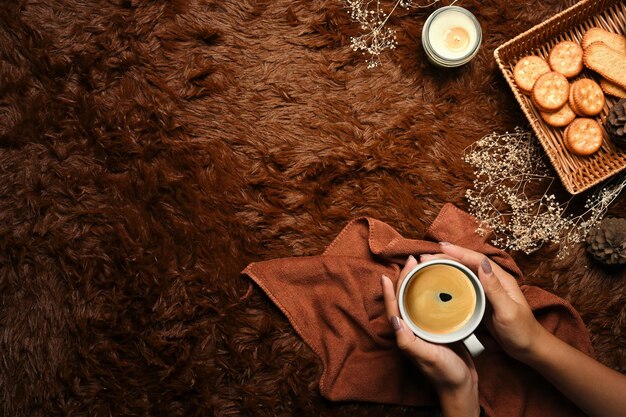
M 423 255 L 423 260 L 451 258 L 478 273 L 493 313 L 485 322 L 500 346 L 512 357 L 526 361 L 546 336 L 535 319 L 517 281 L 485 255 L 460 246 L 442 244 L 442 255 Z

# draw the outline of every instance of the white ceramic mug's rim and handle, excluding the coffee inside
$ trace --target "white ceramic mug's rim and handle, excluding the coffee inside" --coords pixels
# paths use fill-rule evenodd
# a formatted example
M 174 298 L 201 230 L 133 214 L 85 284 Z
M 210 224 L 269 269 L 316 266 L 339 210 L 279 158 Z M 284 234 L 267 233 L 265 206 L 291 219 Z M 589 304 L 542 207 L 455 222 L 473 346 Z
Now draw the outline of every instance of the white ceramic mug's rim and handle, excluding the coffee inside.
M 456 329 L 450 333 L 431 333 L 425 331 L 424 329 L 417 326 L 413 322 L 413 320 L 411 320 L 409 314 L 407 313 L 406 293 L 408 285 L 411 283 L 412 279 L 419 271 L 422 271 L 423 269 L 428 268 L 432 265 L 448 265 L 460 270 L 464 274 L 464 276 L 471 282 L 476 292 L 476 302 L 474 305 L 473 313 L 471 314 L 469 320 L 467 320 L 461 328 Z M 474 274 L 465 265 L 447 259 L 436 259 L 420 263 L 407 274 L 404 281 L 402 281 L 402 283 L 400 284 L 400 288 L 398 291 L 398 306 L 400 308 L 400 315 L 416 336 L 429 342 L 438 344 L 448 344 L 462 341 L 463 344 L 465 344 L 465 346 L 467 347 L 467 350 L 469 350 L 469 352 L 472 354 L 472 356 L 478 356 L 485 350 L 482 343 L 480 343 L 478 338 L 474 335 L 474 331 L 480 324 L 485 314 L 485 304 L 485 291 L 483 290 L 483 286 L 481 285 L 480 280 L 478 279 L 476 274 Z

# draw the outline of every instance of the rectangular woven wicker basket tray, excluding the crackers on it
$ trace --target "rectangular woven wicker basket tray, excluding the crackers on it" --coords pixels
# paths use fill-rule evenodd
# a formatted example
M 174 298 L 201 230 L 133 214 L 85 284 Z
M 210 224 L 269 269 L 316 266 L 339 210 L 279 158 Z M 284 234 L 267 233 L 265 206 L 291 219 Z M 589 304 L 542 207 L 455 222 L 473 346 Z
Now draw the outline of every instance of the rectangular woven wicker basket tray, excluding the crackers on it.
M 623 0 L 583 0 L 545 22 L 499 46 L 494 56 L 500 70 L 513 90 L 515 98 L 526 114 L 541 145 L 563 185 L 571 194 L 581 193 L 626 168 L 626 152 L 620 151 L 604 133 L 602 148 L 587 157 L 572 155 L 563 145 L 564 128 L 547 125 L 530 97 L 522 94 L 513 80 L 513 68 L 517 61 L 530 54 L 548 58 L 550 49 L 564 40 L 580 43 L 587 29 L 600 27 L 624 35 L 626 31 L 626 2 Z M 585 69 L 576 78 L 587 77 L 599 81 L 598 75 Z M 606 96 L 602 113 L 596 117 L 602 122 L 609 108 L 617 101 Z

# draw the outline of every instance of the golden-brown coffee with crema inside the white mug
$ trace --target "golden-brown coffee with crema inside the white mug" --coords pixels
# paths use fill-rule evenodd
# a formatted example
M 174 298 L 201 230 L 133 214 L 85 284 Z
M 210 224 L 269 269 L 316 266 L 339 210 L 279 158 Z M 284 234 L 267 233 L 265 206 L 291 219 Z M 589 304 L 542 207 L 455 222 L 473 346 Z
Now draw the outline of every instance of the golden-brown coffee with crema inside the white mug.
M 430 265 L 418 271 L 404 297 L 411 321 L 433 334 L 452 333 L 462 328 L 476 306 L 476 290 L 470 278 L 449 265 Z

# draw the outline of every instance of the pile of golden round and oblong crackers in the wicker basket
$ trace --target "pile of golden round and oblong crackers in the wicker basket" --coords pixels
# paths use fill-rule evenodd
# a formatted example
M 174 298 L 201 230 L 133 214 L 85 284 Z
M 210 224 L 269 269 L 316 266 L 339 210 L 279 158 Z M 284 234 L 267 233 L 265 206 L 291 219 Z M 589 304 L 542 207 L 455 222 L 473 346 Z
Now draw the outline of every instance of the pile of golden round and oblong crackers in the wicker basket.
M 602 76 L 600 84 L 578 77 L 584 67 Z M 575 155 L 591 155 L 602 146 L 604 131 L 595 117 L 604 108 L 604 94 L 626 97 L 626 37 L 589 29 L 582 46 L 560 42 L 547 61 L 536 55 L 521 58 L 513 77 L 546 124 L 565 128 L 565 147 Z

